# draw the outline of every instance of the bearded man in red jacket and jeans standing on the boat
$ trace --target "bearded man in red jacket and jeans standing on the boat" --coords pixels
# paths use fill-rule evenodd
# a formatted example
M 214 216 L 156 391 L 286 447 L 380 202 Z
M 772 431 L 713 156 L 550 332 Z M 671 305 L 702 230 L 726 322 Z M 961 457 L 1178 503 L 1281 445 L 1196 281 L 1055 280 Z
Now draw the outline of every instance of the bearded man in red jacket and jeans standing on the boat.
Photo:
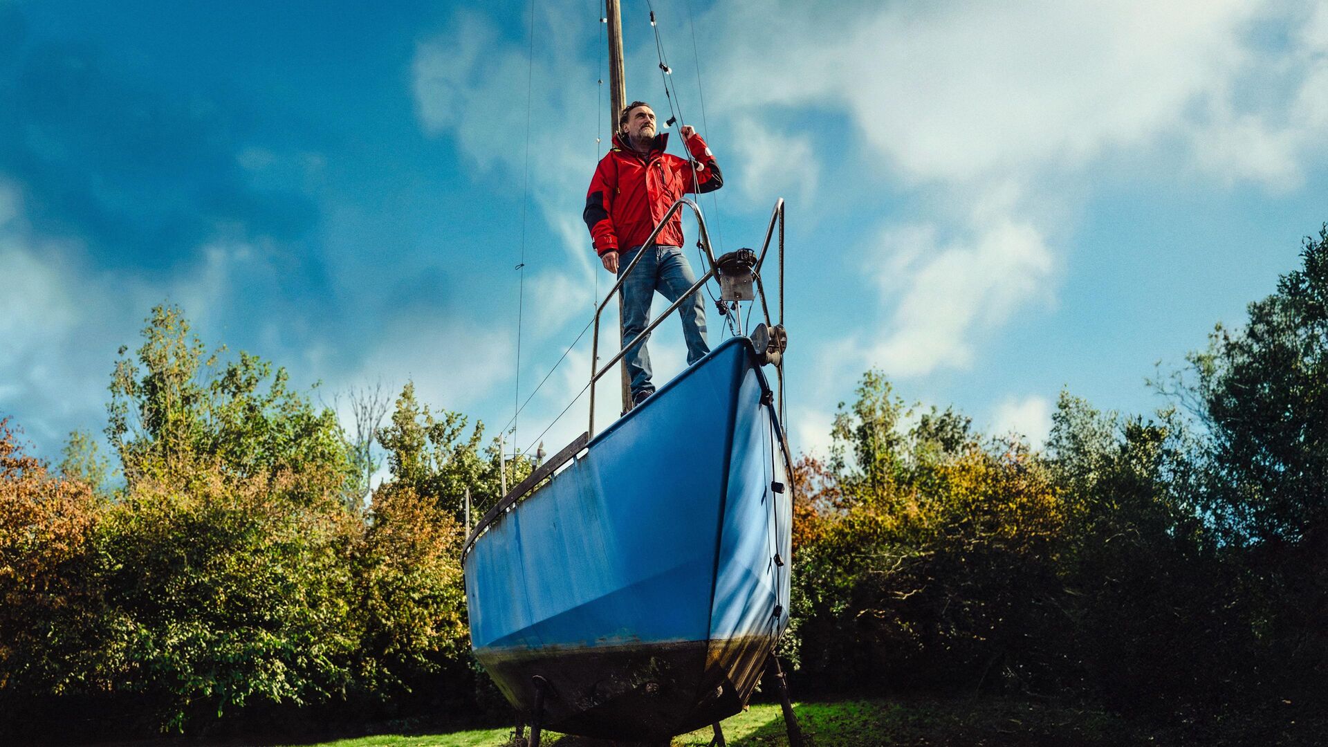
M 610 272 L 622 274 L 636 253 L 645 253 L 623 282 L 625 346 L 649 324 L 655 291 L 675 302 L 696 283 L 696 274 L 683 255 L 681 211 L 669 218 L 651 246 L 641 245 L 677 198 L 689 191 L 714 191 L 724 185 L 724 177 L 710 149 L 691 126 L 684 126 L 680 134 L 693 160 L 664 153 L 668 133 L 656 134 L 655 110 L 644 101 L 628 104 L 618 126 L 612 150 L 600 160 L 591 178 L 582 217 L 590 227 L 595 253 Z M 679 307 L 688 366 L 710 351 L 701 298 L 700 292 L 693 294 Z M 629 350 L 623 362 L 632 379 L 632 404 L 640 404 L 655 392 L 645 340 Z

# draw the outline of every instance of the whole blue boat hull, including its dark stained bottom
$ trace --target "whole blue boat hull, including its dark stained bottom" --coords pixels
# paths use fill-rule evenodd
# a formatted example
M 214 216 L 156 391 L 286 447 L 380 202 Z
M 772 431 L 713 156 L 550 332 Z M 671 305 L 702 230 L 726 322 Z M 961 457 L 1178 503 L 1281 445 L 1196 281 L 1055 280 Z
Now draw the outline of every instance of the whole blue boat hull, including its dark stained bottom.
M 788 625 L 791 492 L 776 492 L 789 465 L 768 392 L 750 342 L 726 340 L 475 540 L 471 645 L 513 706 L 533 710 L 540 675 L 546 726 L 608 739 L 741 710 Z

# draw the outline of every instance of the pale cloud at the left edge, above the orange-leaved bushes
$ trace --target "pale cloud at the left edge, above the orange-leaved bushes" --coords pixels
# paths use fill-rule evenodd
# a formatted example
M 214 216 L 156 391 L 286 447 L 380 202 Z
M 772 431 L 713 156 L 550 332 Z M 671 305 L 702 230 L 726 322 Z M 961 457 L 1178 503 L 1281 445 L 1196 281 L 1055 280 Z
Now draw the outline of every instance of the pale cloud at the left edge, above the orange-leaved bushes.
M 117 350 L 141 344 L 154 304 L 181 306 L 211 346 L 222 340 L 208 334 L 227 328 L 234 303 L 278 275 L 270 251 L 247 242 L 212 241 L 166 280 L 98 268 L 86 254 L 78 241 L 39 235 L 19 189 L 0 178 L 0 411 L 48 457 L 70 429 L 101 431 Z

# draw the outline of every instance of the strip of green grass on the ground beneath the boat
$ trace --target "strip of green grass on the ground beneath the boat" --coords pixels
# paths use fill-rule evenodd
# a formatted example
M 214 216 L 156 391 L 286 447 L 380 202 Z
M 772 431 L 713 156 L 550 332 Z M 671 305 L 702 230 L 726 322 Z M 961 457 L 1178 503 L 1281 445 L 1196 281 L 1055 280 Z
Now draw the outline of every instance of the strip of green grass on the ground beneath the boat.
M 1101 711 L 1042 706 L 1004 699 L 851 699 L 794 704 L 803 734 L 815 747 L 1117 747 L 1146 744 L 1145 735 Z M 725 719 L 730 747 L 784 747 L 780 707 L 753 704 Z M 328 742 L 319 747 L 502 747 L 513 730 L 487 728 L 422 736 L 365 736 Z M 676 736 L 673 747 L 704 747 L 712 731 Z M 602 747 L 608 742 L 546 732 L 546 747 Z

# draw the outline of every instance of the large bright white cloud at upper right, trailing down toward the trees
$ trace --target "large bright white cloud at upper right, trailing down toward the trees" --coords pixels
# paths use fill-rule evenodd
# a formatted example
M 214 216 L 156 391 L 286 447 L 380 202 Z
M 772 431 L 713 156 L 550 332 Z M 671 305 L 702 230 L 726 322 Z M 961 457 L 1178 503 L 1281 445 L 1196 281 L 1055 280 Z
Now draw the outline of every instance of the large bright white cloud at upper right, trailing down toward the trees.
M 884 316 L 863 346 L 907 376 L 969 366 L 983 334 L 1050 298 L 1052 237 L 1073 234 L 1070 202 L 1106 160 L 1127 174 L 1166 153 L 1197 179 L 1296 186 L 1328 136 L 1325 17 L 1244 0 L 752 3 L 704 25 L 729 110 L 841 113 L 872 157 L 849 166 L 854 189 L 923 198 L 882 227 Z M 1291 41 L 1260 41 L 1270 23 Z

